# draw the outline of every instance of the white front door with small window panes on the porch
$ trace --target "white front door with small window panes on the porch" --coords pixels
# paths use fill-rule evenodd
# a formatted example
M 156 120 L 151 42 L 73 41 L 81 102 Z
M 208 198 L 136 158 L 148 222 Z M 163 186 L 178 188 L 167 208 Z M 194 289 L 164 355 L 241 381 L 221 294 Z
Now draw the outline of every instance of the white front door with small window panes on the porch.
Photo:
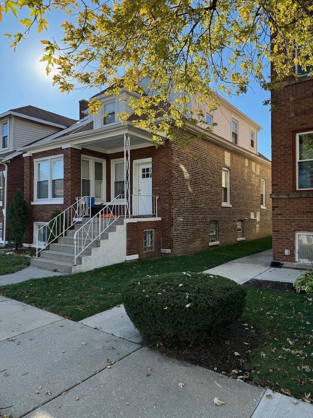
M 152 163 L 138 164 L 138 215 L 152 215 Z

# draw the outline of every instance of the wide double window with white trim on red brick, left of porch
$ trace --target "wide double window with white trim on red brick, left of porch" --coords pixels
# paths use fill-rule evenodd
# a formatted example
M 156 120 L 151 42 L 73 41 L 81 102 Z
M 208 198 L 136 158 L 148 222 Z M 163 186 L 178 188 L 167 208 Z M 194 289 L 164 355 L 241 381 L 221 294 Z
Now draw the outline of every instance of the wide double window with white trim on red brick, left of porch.
M 63 202 L 63 175 L 63 155 L 34 160 L 34 200 Z

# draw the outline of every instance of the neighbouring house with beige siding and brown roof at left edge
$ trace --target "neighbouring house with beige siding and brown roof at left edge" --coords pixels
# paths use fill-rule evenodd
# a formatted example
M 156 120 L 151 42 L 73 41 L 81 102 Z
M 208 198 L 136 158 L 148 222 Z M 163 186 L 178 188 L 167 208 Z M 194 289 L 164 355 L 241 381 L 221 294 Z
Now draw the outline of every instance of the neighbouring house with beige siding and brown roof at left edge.
M 75 122 L 34 106 L 0 114 L 0 244 L 8 240 L 7 211 L 17 188 L 24 189 L 24 145 L 59 132 Z

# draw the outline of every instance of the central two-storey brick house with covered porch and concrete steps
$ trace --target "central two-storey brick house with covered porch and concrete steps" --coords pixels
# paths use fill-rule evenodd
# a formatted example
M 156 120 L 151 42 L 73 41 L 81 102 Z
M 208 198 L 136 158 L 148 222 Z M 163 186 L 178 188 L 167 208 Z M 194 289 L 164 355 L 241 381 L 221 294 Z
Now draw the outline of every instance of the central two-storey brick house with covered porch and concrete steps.
M 81 100 L 78 124 L 21 149 L 31 213 L 25 245 L 45 246 L 57 209 L 70 228 L 33 265 L 87 271 L 271 235 L 271 163 L 258 153 L 257 123 L 218 97 L 217 110 L 203 108 L 210 132 L 187 124 L 188 146 L 165 140 L 156 148 L 132 116 L 119 122 L 117 113 L 131 113 L 128 92 L 120 95 L 99 95 L 97 115 Z M 95 230 L 79 254 L 74 235 L 79 247 Z

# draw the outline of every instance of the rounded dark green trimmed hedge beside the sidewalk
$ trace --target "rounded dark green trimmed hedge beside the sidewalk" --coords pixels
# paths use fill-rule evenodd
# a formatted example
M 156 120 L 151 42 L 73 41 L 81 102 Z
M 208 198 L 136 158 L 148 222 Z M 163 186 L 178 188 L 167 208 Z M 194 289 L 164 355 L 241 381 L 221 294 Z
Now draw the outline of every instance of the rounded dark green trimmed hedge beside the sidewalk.
M 125 310 L 151 343 L 204 343 L 240 319 L 246 289 L 233 280 L 204 273 L 168 273 L 130 282 Z

